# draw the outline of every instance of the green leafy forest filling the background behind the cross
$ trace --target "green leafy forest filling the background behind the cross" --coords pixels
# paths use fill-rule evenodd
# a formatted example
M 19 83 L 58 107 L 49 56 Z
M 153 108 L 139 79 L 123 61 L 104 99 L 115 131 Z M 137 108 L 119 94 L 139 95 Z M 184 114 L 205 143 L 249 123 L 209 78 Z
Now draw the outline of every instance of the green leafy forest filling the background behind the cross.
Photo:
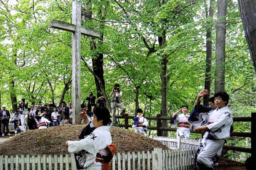
M 206 88 L 210 96 L 222 90 L 230 94 L 234 117 L 256 110 L 253 49 L 248 50 L 237 1 L 81 3 L 82 26 L 101 33 L 100 39 L 81 38 L 82 100 L 89 91 L 108 95 L 118 83 L 130 115 L 140 107 L 146 116 L 169 116 L 184 104 L 191 111 L 197 93 Z M 71 23 L 71 10 L 71 0 L 0 1 L 1 105 L 15 109 L 21 98 L 72 101 L 71 33 L 50 28 L 53 19 Z M 248 131 L 250 124 L 234 128 Z M 249 143 L 241 138 L 231 144 Z M 241 155 L 229 157 L 240 160 Z

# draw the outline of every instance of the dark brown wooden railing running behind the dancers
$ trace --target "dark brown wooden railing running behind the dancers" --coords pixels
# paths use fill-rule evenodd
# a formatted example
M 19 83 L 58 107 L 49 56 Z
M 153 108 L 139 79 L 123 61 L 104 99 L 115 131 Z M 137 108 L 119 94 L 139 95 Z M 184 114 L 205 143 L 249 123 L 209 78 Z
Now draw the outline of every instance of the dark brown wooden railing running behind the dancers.
M 132 125 L 129 125 L 129 119 L 133 119 L 134 116 L 129 116 L 125 114 L 124 116 L 116 116 L 117 119 L 124 119 L 124 124 L 118 124 L 119 127 L 124 127 L 126 129 L 131 128 Z M 161 136 L 161 131 L 173 131 L 176 132 L 176 128 L 168 128 L 168 127 L 161 127 L 162 120 L 170 120 L 170 117 L 163 117 L 160 114 L 153 116 L 153 117 L 146 117 L 148 120 L 156 121 L 156 127 L 148 126 L 149 130 L 157 130 L 157 136 Z M 237 146 L 228 146 L 224 145 L 223 149 L 226 150 L 234 150 L 239 152 L 246 152 L 251 153 L 252 156 L 256 154 L 256 113 L 251 113 L 251 117 L 233 117 L 233 122 L 251 122 L 251 132 L 232 132 L 231 136 L 237 137 L 247 137 L 251 138 L 251 148 L 243 148 Z M 191 133 L 196 133 L 191 130 Z

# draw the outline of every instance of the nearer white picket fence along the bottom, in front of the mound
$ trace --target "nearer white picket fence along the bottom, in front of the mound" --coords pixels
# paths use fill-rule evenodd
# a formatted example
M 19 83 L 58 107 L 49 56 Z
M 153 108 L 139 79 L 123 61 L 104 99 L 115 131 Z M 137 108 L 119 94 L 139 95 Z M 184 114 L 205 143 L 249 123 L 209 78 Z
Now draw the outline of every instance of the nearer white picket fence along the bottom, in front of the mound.
M 195 148 L 162 150 L 154 148 L 147 152 L 116 153 L 112 159 L 112 170 L 189 170 L 194 164 Z M 7 170 L 74 170 L 73 154 L 65 155 L 0 155 L 0 169 Z

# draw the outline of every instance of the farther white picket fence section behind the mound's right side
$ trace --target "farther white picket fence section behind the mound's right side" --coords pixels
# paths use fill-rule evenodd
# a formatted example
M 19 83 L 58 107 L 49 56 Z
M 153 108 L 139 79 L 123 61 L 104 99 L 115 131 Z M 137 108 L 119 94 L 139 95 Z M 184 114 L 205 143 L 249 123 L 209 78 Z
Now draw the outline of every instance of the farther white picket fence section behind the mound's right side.
M 170 149 L 179 149 L 179 148 L 197 148 L 200 144 L 201 139 L 185 139 L 181 137 L 172 138 L 165 136 L 152 136 L 150 138 L 161 142 Z

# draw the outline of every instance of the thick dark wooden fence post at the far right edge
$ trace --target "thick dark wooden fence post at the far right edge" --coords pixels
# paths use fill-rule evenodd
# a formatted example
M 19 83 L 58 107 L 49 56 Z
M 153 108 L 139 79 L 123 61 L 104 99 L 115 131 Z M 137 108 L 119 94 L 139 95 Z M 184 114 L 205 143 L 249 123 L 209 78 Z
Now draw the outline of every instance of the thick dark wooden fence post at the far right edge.
M 256 113 L 251 113 L 251 157 L 256 156 Z

